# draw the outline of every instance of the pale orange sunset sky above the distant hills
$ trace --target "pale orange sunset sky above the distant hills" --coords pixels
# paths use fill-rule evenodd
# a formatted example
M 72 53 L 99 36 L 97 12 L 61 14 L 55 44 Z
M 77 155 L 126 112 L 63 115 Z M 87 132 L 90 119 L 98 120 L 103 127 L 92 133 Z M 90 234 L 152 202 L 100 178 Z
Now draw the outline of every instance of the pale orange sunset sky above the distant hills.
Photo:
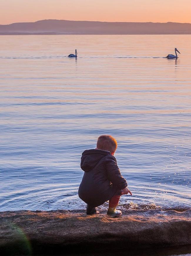
M 0 1 L 0 24 L 41 19 L 191 23 L 190 0 Z

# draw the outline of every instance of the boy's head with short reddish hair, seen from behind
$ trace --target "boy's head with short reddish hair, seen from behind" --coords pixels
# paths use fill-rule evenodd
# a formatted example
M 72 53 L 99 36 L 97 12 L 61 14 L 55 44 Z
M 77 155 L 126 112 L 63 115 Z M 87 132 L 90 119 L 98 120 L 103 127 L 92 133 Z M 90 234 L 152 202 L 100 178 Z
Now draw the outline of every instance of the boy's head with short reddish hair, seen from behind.
M 117 149 L 117 141 L 111 135 L 101 135 L 97 141 L 97 149 L 110 151 L 113 155 Z

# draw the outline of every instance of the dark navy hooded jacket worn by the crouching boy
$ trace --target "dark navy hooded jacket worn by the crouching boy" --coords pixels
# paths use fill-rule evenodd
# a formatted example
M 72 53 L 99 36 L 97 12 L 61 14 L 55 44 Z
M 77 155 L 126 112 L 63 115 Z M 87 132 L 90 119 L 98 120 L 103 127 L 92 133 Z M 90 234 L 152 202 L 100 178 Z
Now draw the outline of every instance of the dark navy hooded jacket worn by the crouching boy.
M 82 153 L 81 169 L 84 171 L 78 195 L 87 204 L 100 206 L 120 190 L 127 182 L 120 173 L 117 161 L 109 151 L 89 149 Z

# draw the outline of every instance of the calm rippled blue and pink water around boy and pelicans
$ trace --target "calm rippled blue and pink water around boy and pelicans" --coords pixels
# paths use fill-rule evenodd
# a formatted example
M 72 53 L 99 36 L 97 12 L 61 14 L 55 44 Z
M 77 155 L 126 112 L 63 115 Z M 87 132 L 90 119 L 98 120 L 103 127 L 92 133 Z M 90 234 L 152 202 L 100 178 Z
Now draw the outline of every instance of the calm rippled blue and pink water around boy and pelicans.
M 190 41 L 1 36 L 0 211 L 85 209 L 81 153 L 101 134 L 117 139 L 133 193 L 121 208 L 191 208 Z M 180 58 L 163 58 L 175 47 Z M 75 49 L 78 58 L 68 58 Z

